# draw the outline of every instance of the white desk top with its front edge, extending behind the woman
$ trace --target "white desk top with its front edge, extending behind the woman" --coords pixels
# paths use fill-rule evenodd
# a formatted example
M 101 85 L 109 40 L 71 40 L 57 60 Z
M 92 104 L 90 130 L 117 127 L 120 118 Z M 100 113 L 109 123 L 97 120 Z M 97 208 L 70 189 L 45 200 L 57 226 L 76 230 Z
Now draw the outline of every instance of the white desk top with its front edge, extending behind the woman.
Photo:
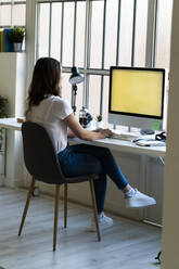
M 13 130 L 21 130 L 22 124 L 17 123 L 15 118 L 1 118 L 0 119 L 0 127 L 5 129 L 13 129 Z M 100 139 L 95 141 L 82 141 L 77 138 L 69 139 L 72 143 L 89 143 L 93 145 L 106 146 L 111 150 L 120 151 L 120 152 L 129 152 L 135 154 L 145 154 L 150 156 L 165 156 L 166 146 L 138 146 L 130 141 L 117 140 L 117 139 Z

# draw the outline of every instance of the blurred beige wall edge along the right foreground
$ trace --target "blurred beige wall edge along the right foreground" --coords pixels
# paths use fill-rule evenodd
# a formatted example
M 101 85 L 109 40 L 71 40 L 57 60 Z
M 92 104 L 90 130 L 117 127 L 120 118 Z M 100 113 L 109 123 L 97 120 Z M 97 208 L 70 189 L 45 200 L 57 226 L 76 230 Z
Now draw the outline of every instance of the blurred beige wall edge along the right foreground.
M 163 269 L 179 268 L 179 1 L 174 0 L 167 154 L 165 165 Z M 168 37 L 169 38 L 169 37 Z

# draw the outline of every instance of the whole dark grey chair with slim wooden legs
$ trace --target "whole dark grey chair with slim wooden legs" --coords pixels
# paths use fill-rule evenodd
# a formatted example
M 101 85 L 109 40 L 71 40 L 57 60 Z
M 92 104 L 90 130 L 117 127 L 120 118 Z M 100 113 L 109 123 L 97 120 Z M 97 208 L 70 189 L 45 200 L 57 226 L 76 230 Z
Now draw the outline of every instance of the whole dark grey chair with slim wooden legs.
M 24 207 L 18 235 L 21 235 L 22 233 L 33 189 L 35 187 L 35 181 L 39 180 L 49 184 L 55 184 L 54 226 L 53 226 L 53 251 L 55 251 L 60 188 L 62 184 L 64 184 L 64 228 L 66 228 L 67 227 L 67 184 L 89 181 L 98 241 L 100 241 L 101 235 L 100 235 L 100 229 L 98 222 L 98 213 L 97 213 L 97 204 L 95 204 L 94 188 L 93 188 L 93 180 L 98 179 L 98 175 L 91 174 L 91 175 L 85 175 L 73 178 L 65 177 L 62 172 L 61 164 L 57 159 L 52 141 L 48 132 L 41 125 L 26 121 L 22 125 L 22 134 L 23 134 L 24 161 L 28 172 L 31 175 L 31 183 L 29 185 L 29 190 L 26 198 L 26 204 Z

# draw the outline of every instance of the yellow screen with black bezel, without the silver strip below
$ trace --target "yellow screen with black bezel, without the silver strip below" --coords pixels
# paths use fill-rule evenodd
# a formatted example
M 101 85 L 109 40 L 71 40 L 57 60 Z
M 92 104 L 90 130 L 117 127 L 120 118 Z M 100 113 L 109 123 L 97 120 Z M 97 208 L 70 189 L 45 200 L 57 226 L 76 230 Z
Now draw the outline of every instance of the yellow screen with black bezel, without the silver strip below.
M 164 69 L 111 67 L 110 112 L 163 117 Z

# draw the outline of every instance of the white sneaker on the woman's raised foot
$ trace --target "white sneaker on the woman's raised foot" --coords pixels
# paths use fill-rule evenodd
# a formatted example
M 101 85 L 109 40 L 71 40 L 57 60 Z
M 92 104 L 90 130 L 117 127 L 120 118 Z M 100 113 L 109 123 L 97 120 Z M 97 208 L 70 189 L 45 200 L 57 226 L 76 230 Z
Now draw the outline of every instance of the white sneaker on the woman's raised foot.
M 137 189 L 135 191 L 136 193 L 131 197 L 126 197 L 126 208 L 142 208 L 156 204 L 153 197 L 139 192 Z

